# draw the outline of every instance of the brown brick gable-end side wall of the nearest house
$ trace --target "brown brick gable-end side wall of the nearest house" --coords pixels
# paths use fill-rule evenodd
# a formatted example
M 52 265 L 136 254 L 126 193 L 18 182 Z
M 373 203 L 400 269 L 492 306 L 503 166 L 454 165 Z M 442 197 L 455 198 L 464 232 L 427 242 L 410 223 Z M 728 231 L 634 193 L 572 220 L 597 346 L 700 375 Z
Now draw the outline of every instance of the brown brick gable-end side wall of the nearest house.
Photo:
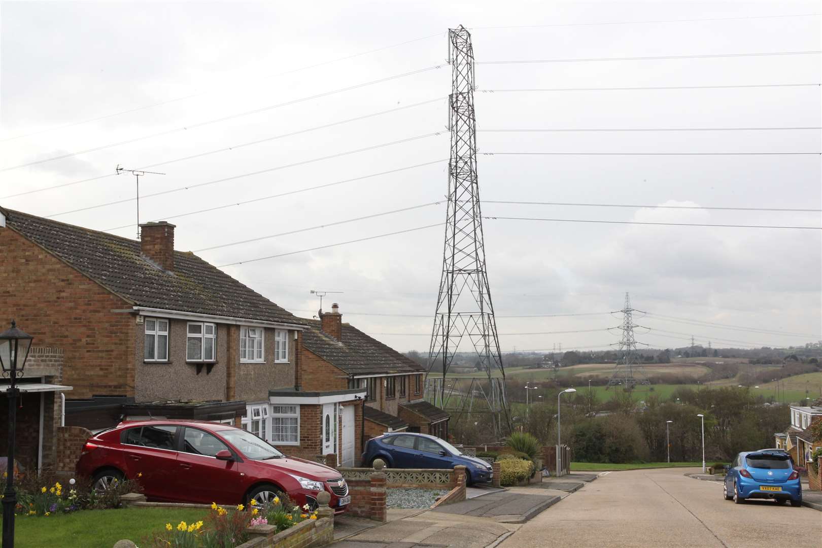
M 134 395 L 131 304 L 86 278 L 34 242 L 0 228 L 0 320 L 12 319 L 35 344 L 62 348 L 70 398 Z

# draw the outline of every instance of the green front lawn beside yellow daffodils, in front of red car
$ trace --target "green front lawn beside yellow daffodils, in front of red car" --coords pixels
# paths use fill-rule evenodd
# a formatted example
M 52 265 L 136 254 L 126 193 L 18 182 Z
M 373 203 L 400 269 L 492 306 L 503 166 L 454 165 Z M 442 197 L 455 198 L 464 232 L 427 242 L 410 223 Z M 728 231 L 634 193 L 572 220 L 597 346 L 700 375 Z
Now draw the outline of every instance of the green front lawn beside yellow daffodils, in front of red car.
M 48 517 L 17 516 L 15 546 L 42 548 L 111 548 L 127 538 L 141 546 L 141 539 L 159 531 L 166 523 L 192 523 L 205 518 L 207 509 L 135 508 L 81 510 Z

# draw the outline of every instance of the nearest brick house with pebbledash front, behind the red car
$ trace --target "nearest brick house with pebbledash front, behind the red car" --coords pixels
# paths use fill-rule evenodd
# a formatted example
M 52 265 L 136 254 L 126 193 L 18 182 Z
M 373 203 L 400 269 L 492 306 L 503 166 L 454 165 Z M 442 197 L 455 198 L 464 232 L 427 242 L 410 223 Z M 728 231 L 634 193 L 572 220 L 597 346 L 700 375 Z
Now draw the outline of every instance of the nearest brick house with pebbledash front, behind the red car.
M 136 241 L 0 209 L 0 319 L 61 352 L 66 426 L 198 418 L 279 444 L 293 421 L 269 390 L 293 388 L 304 322 L 175 251 L 174 228 Z

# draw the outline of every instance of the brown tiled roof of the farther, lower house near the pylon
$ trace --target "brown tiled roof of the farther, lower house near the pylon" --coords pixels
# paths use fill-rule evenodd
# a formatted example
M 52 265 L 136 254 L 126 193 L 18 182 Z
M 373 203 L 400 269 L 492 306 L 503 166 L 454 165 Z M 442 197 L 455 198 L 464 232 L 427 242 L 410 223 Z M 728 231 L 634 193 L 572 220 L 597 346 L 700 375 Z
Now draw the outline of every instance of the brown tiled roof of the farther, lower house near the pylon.
M 300 320 L 307 325 L 302 332 L 303 346 L 349 375 L 425 371 L 416 361 L 352 325 L 343 324 L 343 340 L 339 342 L 321 329 L 319 320 Z

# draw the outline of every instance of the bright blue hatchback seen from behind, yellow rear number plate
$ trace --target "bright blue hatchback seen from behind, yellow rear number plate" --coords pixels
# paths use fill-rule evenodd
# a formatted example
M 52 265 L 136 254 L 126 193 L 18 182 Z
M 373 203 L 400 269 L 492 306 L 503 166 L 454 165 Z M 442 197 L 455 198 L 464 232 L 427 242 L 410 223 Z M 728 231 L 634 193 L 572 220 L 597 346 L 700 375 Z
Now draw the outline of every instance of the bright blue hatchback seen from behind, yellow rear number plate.
M 793 469 L 790 455 L 783 451 L 740 453 L 727 469 L 723 494 L 725 500 L 742 504 L 748 499 L 770 499 L 777 504 L 790 501 L 802 504 L 799 472 Z

